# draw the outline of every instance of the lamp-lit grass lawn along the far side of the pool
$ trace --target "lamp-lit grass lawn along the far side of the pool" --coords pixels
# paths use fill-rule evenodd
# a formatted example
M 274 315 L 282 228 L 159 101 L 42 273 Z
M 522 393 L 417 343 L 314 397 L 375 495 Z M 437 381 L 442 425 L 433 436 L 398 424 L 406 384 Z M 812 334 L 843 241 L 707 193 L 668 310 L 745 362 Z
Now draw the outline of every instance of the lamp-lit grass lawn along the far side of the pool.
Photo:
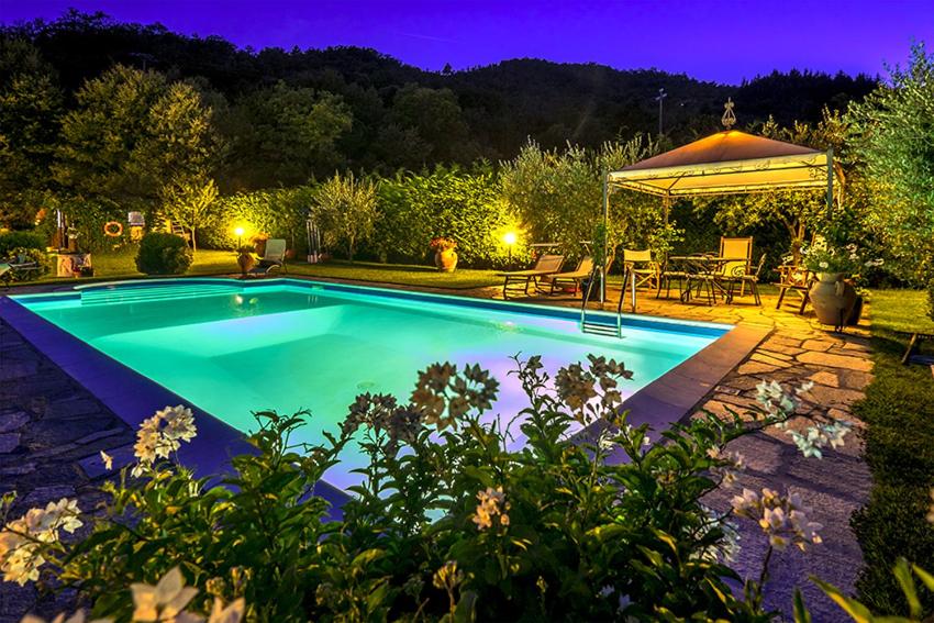
M 134 252 L 94 254 L 93 278 L 55 277 L 47 275 L 38 281 L 14 283 L 69 283 L 107 281 L 112 279 L 133 279 L 145 277 L 136 270 Z M 194 262 L 186 276 L 231 275 L 238 272 L 236 255 L 232 251 L 202 249 L 194 254 Z M 502 282 L 496 270 L 474 270 L 462 268 L 454 272 L 441 272 L 433 266 L 403 264 L 377 264 L 371 262 L 332 260 L 325 264 L 289 263 L 287 276 L 331 277 L 354 281 L 376 281 L 400 286 L 426 286 L 434 288 L 467 289 L 494 286 Z

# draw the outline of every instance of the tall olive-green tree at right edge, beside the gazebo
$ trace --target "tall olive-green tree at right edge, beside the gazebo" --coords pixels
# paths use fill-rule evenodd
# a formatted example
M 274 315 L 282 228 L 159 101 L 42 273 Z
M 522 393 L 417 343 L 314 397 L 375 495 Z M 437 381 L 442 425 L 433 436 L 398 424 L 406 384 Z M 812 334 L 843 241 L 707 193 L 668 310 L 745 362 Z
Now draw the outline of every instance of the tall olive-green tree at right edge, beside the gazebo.
M 903 277 L 931 283 L 934 318 L 934 55 L 914 45 L 908 68 L 891 69 L 846 116 L 872 186 L 867 224 Z

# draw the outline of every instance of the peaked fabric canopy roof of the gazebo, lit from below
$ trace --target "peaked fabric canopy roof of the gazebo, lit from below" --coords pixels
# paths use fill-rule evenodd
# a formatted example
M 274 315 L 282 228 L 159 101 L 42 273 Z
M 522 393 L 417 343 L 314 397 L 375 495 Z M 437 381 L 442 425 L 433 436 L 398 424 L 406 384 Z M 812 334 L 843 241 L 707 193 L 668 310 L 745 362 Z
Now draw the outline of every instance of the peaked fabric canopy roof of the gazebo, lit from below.
M 830 162 L 825 152 L 726 130 L 612 171 L 608 182 L 661 197 L 826 188 Z

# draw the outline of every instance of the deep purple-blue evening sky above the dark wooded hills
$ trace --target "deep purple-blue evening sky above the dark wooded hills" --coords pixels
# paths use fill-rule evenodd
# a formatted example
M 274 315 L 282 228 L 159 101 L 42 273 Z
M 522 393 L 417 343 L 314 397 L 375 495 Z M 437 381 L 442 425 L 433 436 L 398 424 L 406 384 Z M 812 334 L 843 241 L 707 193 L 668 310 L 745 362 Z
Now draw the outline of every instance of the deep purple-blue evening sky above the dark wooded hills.
M 883 74 L 912 40 L 934 47 L 934 0 L 0 0 L 0 20 L 68 7 L 254 48 L 374 47 L 427 69 L 538 57 L 731 84 L 772 69 Z

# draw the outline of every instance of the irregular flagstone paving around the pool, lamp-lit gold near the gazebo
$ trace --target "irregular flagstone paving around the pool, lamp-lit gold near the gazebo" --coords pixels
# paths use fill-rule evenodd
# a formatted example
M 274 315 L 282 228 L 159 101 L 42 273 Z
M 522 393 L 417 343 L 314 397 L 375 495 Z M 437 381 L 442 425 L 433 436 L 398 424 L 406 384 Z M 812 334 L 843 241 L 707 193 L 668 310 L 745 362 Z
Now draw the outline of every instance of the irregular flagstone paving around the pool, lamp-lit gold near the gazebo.
M 499 288 L 421 290 L 482 298 L 501 296 Z M 611 290 L 610 300 L 618 298 L 619 290 Z M 579 301 L 570 298 L 523 302 L 579 305 Z M 731 446 L 743 454 L 748 466 L 736 485 L 737 490 L 771 487 L 799 492 L 813 507 L 813 520 L 824 524 L 822 545 L 805 554 L 789 549 L 772 557 L 768 605 L 788 613 L 791 592 L 798 586 L 815 621 L 846 621 L 808 577 L 819 576 L 848 590 L 861 564 L 858 544 L 849 530 L 849 515 L 865 502 L 869 472 L 860 458 L 860 425 L 849 415 L 849 409 L 871 380 L 868 323 L 864 320 L 860 326 L 838 335 L 818 324 L 810 314 L 793 313 L 792 305 L 776 310 L 775 302 L 775 297 L 764 296 L 761 307 L 753 305 L 748 297 L 733 305 L 708 307 L 682 304 L 676 299 L 656 300 L 640 292 L 638 312 L 741 324 L 766 335 L 686 416 L 702 410 L 713 413 L 724 413 L 727 408 L 742 410 L 754 403 L 755 387 L 761 380 L 791 383 L 812 380 L 815 385 L 810 397 L 814 403 L 856 424 L 847 446 L 825 453 L 822 460 L 803 458 L 790 437 L 779 431 L 748 435 Z M 614 310 L 615 303 L 610 307 Z M 81 508 L 92 508 L 98 501 L 94 477 L 100 471 L 99 466 L 93 466 L 101 449 L 125 456 L 131 452 L 133 431 L 2 322 L 0 354 L 0 492 L 20 491 L 18 512 L 62 496 L 76 496 Z M 710 503 L 723 510 L 731 494 L 716 493 Z M 752 522 L 741 527 L 740 570 L 757 577 L 765 542 Z M 55 609 L 55 602 L 40 599 L 31 588 L 0 582 L 0 623 L 19 621 L 26 610 L 49 615 Z

